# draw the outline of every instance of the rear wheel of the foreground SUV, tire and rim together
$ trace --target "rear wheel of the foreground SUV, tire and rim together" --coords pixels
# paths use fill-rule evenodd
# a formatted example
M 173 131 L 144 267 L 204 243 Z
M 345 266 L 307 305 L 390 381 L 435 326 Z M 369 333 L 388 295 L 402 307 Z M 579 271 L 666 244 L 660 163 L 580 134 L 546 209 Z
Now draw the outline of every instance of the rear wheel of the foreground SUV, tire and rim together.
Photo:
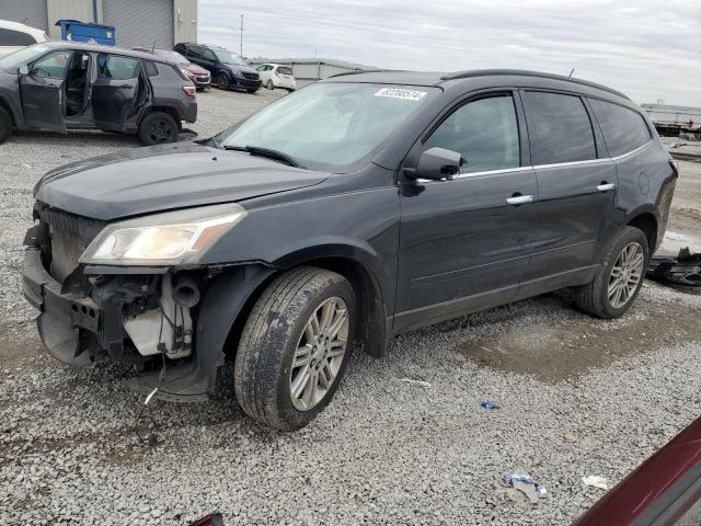
M 629 259 L 636 263 L 628 265 L 631 268 L 632 266 L 637 268 L 636 272 L 630 274 L 631 279 L 624 278 L 628 275 L 624 272 L 629 271 L 621 271 L 625 266 L 624 260 L 622 260 L 624 249 L 629 251 L 627 252 Z M 631 252 L 633 249 L 634 252 Z M 637 263 L 640 256 L 642 256 L 642 262 L 640 262 L 642 265 Z M 612 319 L 622 316 L 631 308 L 640 293 L 648 262 L 650 249 L 645 233 L 634 227 L 624 227 L 607 245 L 604 261 L 596 271 L 594 281 L 576 289 L 577 306 L 597 318 Z M 616 276 L 623 277 L 617 278 Z M 633 283 L 634 276 L 637 276 L 635 283 Z M 616 287 L 614 282 L 618 282 L 619 285 L 624 283 L 625 287 Z M 613 293 L 610 287 L 613 288 Z M 624 289 L 619 290 L 621 288 Z

